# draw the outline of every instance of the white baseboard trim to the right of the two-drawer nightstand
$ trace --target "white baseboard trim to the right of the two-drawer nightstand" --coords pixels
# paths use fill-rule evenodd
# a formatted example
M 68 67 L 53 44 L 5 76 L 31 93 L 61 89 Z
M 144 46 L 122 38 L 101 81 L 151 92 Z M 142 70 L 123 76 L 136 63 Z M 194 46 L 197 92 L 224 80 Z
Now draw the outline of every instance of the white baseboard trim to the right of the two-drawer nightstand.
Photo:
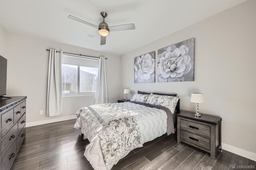
M 240 156 L 244 156 L 245 158 L 256 161 L 256 153 L 254 153 L 254 152 L 250 152 L 248 150 L 240 149 L 240 148 L 234 147 L 232 145 L 228 145 L 226 143 L 222 143 L 222 149 L 227 150 L 229 152 L 232 152 L 234 154 L 238 154 Z

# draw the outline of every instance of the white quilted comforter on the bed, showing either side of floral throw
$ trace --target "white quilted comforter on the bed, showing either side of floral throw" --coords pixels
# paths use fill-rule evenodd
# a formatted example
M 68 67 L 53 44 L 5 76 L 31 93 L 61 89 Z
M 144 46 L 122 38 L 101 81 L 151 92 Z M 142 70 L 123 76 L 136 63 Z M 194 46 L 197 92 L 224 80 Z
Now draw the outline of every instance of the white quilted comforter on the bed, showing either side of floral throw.
M 114 105 L 124 107 L 124 109 L 133 112 L 132 115 L 136 118 L 140 128 L 142 143 L 152 141 L 156 137 L 166 133 L 167 115 L 164 110 L 130 102 L 115 103 Z M 95 170 L 110 170 L 117 162 L 105 166 L 96 129 L 94 129 L 94 127 L 92 127 L 92 125 L 82 116 L 78 117 L 74 127 L 77 129 L 81 128 L 81 133 L 90 141 L 90 144 L 86 147 L 84 156 L 90 162 L 92 167 Z

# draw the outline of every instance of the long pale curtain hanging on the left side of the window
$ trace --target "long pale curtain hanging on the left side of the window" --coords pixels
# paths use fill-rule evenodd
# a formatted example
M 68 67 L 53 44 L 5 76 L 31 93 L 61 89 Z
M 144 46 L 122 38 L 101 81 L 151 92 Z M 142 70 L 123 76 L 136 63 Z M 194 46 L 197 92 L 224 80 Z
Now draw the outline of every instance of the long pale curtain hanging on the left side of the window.
M 55 49 L 50 49 L 46 99 L 47 116 L 57 116 L 62 113 L 62 59 L 62 51 L 57 53 Z

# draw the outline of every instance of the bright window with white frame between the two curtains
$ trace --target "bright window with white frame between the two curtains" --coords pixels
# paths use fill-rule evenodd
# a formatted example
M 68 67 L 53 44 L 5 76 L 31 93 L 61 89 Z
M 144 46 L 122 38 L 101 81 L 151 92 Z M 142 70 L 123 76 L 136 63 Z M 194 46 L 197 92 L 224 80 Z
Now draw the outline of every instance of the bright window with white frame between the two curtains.
M 64 56 L 62 64 L 62 94 L 65 96 L 95 95 L 98 83 L 98 67 L 95 66 L 98 65 L 98 61 L 67 58 L 65 59 Z

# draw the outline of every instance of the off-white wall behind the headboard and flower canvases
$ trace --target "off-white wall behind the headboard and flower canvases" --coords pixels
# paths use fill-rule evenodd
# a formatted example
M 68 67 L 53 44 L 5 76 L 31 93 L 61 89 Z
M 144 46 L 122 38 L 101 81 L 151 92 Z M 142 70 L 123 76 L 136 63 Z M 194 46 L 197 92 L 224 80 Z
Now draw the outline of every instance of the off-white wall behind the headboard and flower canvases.
M 255 9 L 256 1 L 249 0 L 122 55 L 123 88 L 176 92 L 181 109 L 190 111 L 195 110 L 190 94 L 204 93 L 200 111 L 222 117 L 222 142 L 256 153 Z M 153 50 L 157 56 L 158 49 L 192 37 L 194 82 L 134 84 L 134 57 Z

